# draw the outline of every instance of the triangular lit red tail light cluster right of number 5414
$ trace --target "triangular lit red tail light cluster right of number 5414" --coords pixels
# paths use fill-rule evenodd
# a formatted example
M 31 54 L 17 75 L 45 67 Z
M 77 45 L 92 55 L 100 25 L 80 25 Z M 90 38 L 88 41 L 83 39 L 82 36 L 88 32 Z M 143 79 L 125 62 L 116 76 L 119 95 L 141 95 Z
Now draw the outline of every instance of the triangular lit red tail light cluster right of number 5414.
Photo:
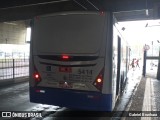
M 104 69 L 101 70 L 101 72 L 96 77 L 96 80 L 93 82 L 93 85 L 100 91 L 102 91 L 103 87 L 103 74 L 104 74 Z

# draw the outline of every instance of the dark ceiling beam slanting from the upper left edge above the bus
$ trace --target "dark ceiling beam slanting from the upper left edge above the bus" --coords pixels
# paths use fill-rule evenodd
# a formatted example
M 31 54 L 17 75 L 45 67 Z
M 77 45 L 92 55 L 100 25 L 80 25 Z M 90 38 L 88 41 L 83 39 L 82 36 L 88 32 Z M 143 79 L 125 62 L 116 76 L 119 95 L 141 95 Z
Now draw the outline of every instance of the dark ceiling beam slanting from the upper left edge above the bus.
M 8 9 L 0 10 L 0 22 L 4 21 L 17 21 L 32 19 L 35 16 L 49 14 L 53 12 L 79 10 L 80 7 L 76 6 L 73 2 L 63 2 L 63 4 L 50 3 L 31 6 L 19 6 Z

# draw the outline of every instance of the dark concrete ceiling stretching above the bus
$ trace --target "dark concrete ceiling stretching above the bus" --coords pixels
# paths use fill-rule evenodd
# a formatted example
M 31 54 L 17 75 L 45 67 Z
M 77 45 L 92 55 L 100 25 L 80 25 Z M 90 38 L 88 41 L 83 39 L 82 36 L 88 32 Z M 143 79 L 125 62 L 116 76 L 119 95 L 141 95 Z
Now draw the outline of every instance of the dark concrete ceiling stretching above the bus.
M 118 21 L 153 19 L 159 0 L 1 0 L 0 22 L 27 20 L 34 16 L 72 10 L 112 11 Z M 146 9 L 149 14 L 146 14 Z

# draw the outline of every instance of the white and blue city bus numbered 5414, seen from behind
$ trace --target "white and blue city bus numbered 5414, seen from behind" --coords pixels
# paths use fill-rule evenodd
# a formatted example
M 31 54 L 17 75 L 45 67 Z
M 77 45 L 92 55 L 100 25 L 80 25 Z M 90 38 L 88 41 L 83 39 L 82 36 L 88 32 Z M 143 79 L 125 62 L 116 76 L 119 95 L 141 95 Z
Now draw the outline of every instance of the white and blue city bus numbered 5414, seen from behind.
M 30 101 L 112 111 L 128 72 L 127 42 L 111 12 L 70 11 L 32 20 Z

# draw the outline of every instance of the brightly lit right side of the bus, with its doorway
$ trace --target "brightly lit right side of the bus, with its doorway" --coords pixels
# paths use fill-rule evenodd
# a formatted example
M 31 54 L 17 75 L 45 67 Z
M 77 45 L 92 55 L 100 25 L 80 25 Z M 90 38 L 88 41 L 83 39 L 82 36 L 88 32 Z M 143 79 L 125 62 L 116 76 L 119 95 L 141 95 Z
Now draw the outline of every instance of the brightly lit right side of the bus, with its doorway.
M 122 89 L 125 87 L 125 79 L 127 78 L 127 42 L 121 35 L 120 28 L 116 23 L 113 23 L 113 57 L 112 57 L 112 99 L 113 106 L 120 97 Z

